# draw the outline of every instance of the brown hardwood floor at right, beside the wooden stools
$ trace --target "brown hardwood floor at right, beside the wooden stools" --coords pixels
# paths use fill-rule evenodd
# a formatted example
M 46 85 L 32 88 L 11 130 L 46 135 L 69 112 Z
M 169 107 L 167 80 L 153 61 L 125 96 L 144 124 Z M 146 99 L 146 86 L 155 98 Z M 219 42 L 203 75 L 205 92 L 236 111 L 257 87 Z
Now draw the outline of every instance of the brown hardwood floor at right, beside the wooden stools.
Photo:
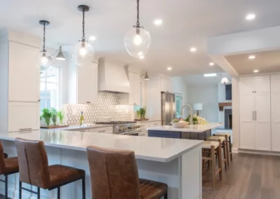
M 223 181 L 211 181 L 211 167 L 204 173 L 203 199 L 279 199 L 280 156 L 234 153 Z

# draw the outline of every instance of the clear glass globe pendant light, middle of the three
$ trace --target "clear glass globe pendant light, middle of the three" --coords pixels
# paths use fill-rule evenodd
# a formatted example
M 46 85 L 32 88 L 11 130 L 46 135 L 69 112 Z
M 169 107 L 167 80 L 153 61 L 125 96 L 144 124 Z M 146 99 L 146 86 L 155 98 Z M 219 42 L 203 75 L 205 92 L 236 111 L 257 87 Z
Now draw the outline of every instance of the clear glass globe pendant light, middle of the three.
M 88 6 L 80 5 L 78 10 L 83 12 L 83 36 L 75 46 L 73 58 L 76 64 L 80 67 L 85 66 L 93 61 L 94 50 L 90 43 L 85 40 L 85 12 L 90 11 Z

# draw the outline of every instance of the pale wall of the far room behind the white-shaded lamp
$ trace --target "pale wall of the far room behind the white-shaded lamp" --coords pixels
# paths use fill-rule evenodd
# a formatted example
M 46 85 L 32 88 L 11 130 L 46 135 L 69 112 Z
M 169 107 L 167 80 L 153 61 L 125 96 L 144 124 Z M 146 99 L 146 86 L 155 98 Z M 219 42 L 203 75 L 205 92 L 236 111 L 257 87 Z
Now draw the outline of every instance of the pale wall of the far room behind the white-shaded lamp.
M 188 87 L 187 95 L 188 104 L 202 103 L 200 116 L 209 122 L 218 122 L 218 85 Z

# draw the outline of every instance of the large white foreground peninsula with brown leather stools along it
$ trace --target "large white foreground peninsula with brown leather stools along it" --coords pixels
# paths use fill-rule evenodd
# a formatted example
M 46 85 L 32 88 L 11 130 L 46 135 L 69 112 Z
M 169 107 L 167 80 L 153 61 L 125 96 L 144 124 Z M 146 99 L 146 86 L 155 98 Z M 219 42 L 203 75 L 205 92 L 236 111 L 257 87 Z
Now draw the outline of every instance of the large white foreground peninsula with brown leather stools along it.
M 86 198 L 91 197 L 90 170 L 86 147 L 100 146 L 109 149 L 134 151 L 139 177 L 168 184 L 168 196 L 172 199 L 202 198 L 202 142 L 187 139 L 136 137 L 95 132 L 67 130 L 38 130 L 30 132 L 0 133 L 3 149 L 10 157 L 17 156 L 15 138 L 42 140 L 48 153 L 48 163 L 68 165 L 85 170 Z M 9 176 L 10 198 L 18 198 L 19 174 Z M 23 184 L 27 188 L 30 185 Z M 62 198 L 77 199 L 81 195 L 81 182 L 62 186 Z M 3 186 L 0 193 L 3 193 Z M 23 191 L 23 198 L 35 195 Z M 56 190 L 41 189 L 41 198 L 56 198 Z

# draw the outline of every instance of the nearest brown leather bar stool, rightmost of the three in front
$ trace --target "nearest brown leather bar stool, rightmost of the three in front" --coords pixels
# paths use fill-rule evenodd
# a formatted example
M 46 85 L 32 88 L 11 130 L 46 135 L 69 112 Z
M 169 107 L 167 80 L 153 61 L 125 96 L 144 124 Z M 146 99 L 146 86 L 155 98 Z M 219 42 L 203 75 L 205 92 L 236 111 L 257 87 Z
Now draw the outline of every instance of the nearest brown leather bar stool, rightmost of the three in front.
M 92 199 L 167 199 L 167 184 L 139 179 L 133 151 L 87 147 Z

